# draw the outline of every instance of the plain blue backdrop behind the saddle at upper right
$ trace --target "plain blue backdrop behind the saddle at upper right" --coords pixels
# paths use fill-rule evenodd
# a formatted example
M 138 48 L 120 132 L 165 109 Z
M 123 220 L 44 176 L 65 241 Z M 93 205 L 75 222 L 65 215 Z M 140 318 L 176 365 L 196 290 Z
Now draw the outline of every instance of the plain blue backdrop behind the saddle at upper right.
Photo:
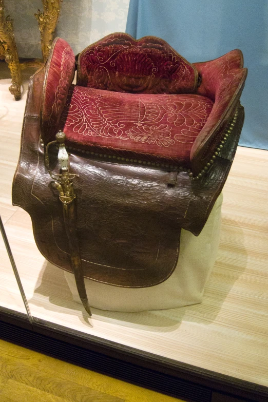
M 268 149 L 268 0 L 130 0 L 126 32 L 159 36 L 192 63 L 241 49 L 240 145 Z

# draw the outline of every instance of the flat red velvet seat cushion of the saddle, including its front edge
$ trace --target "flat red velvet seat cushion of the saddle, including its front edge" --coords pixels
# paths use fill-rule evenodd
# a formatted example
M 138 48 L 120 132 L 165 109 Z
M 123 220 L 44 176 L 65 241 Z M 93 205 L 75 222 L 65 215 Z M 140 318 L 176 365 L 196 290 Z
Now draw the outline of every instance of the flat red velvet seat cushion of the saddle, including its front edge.
M 190 166 L 190 149 L 213 102 L 196 94 L 151 95 L 74 86 L 63 112 L 69 145 Z

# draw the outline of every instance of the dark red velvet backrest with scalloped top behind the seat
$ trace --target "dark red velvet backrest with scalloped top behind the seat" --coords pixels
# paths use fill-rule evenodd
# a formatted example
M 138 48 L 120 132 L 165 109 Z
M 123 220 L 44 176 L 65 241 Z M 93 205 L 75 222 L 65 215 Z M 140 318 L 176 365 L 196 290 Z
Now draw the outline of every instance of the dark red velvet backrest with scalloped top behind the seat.
M 155 36 L 135 40 L 113 33 L 79 55 L 78 85 L 133 93 L 188 93 L 198 84 L 196 68 Z

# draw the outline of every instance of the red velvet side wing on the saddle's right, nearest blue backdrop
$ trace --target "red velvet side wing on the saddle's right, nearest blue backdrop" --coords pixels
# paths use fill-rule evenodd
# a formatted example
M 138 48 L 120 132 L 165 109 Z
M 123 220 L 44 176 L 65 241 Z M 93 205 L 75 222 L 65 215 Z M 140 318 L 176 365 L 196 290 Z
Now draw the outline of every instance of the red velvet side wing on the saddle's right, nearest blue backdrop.
M 192 165 L 198 171 L 216 150 L 222 132 L 235 112 L 244 88 L 247 69 L 243 68 L 243 54 L 238 49 L 209 62 L 195 63 L 195 66 L 202 76 L 198 94 L 215 102 L 191 149 Z

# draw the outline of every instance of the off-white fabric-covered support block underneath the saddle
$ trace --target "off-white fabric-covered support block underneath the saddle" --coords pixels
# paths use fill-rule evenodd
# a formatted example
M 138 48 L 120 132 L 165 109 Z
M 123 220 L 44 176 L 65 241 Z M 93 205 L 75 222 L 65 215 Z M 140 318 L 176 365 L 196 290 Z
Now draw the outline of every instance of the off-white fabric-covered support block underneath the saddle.
M 90 306 L 102 310 L 137 312 L 175 309 L 200 303 L 218 251 L 221 205 L 222 194 L 198 237 L 182 229 L 178 263 L 165 282 L 150 288 L 131 289 L 85 279 Z M 81 303 L 74 275 L 65 272 L 65 278 L 73 299 Z

